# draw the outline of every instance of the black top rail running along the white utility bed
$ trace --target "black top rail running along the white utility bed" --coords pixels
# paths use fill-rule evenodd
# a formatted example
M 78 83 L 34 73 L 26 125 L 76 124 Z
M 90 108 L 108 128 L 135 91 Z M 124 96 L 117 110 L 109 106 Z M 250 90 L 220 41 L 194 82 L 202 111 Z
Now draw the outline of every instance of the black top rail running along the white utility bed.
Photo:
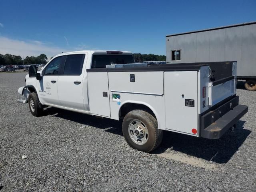
M 162 64 L 149 65 L 147 67 L 133 68 L 93 68 L 87 69 L 87 72 L 127 72 L 127 71 L 198 71 L 201 66 L 210 66 L 213 64 L 227 64 L 226 62 L 200 62 L 200 63 L 180 63 L 180 64 Z

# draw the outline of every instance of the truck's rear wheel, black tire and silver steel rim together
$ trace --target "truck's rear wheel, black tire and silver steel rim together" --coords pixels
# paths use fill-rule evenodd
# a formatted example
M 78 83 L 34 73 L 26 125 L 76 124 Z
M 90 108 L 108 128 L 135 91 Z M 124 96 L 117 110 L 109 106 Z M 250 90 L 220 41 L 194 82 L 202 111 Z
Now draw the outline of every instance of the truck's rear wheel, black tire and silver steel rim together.
M 163 132 L 158 129 L 157 120 L 143 110 L 132 110 L 124 117 L 122 130 L 130 147 L 150 152 L 162 142 Z

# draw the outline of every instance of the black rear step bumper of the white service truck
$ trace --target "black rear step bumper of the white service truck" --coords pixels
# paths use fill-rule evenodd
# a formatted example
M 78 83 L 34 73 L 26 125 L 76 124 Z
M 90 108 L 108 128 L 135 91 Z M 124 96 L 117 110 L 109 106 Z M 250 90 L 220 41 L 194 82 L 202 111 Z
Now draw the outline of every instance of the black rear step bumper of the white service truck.
M 208 139 L 220 138 L 231 128 L 244 114 L 248 112 L 248 106 L 238 104 L 236 96 L 221 106 L 201 116 L 200 136 Z

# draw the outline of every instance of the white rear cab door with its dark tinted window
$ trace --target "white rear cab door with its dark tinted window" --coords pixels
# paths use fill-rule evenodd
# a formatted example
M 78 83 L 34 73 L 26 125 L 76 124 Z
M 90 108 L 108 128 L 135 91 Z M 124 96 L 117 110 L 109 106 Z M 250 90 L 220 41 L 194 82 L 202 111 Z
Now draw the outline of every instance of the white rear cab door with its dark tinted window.
M 86 54 L 66 56 L 63 74 L 58 78 L 58 98 L 60 105 L 84 110 L 83 100 L 83 66 Z

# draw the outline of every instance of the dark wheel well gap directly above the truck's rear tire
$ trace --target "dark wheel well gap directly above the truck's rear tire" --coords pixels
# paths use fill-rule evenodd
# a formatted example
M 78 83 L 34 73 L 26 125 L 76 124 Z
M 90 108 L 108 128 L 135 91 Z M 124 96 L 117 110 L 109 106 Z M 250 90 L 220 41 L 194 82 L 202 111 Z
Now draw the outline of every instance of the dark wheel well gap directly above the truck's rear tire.
M 154 112 L 146 105 L 143 104 L 136 104 L 136 103 L 126 103 L 122 105 L 122 107 L 119 110 L 119 119 L 123 119 L 126 114 L 132 110 L 139 109 L 139 110 L 144 110 L 154 116 L 156 118 L 156 115 Z

